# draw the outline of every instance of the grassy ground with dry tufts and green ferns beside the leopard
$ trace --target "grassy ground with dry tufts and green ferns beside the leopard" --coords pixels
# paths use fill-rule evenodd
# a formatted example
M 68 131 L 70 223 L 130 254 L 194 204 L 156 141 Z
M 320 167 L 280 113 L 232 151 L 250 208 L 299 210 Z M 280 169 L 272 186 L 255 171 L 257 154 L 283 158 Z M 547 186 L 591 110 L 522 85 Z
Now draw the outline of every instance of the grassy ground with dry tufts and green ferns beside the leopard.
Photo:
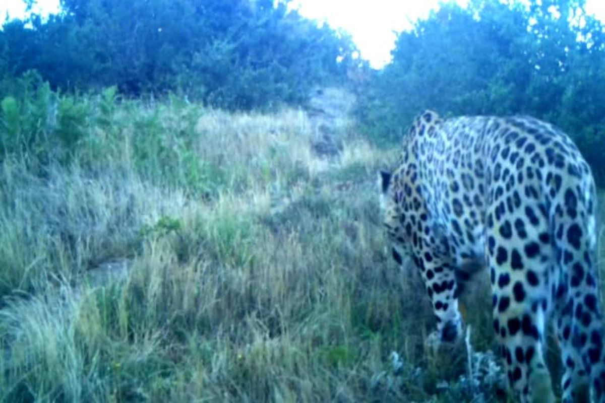
M 430 306 L 379 225 L 397 150 L 342 120 L 325 159 L 300 111 L 109 98 L 70 152 L 0 164 L 0 401 L 471 401 L 465 354 L 424 351 Z

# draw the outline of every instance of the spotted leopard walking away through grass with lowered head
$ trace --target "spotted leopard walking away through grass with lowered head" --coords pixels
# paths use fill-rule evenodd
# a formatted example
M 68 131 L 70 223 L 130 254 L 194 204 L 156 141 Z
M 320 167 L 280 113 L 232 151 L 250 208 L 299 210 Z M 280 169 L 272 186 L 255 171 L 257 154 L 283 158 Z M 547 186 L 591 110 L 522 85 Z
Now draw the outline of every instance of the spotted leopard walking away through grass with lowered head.
M 552 324 L 561 401 L 605 402 L 597 188 L 571 137 L 528 115 L 431 110 L 403 137 L 394 167 L 379 170 L 381 224 L 393 258 L 407 256 L 420 273 L 436 318 L 430 340 L 461 339 L 460 293 L 484 273 L 514 400 L 555 401 L 545 361 Z

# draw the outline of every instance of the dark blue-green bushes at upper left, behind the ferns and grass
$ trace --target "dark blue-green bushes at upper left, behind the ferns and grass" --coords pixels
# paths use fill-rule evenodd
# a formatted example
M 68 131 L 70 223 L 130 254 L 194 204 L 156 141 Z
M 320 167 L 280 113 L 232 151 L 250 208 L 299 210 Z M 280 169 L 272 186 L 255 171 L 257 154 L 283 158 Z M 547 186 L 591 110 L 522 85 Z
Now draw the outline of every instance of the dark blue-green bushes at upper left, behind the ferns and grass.
M 36 69 L 53 89 L 178 91 L 227 109 L 300 103 L 344 77 L 355 48 L 288 2 L 62 0 L 46 22 L 5 23 L 0 74 Z

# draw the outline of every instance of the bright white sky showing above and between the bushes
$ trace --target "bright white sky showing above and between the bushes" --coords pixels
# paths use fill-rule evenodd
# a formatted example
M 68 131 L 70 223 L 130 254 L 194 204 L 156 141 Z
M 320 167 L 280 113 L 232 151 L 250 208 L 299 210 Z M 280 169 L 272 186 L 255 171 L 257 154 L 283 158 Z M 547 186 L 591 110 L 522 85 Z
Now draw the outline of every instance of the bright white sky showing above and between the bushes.
M 468 0 L 457 1 L 466 4 Z M 495 1 L 495 0 L 494 0 Z M 327 21 L 332 27 L 344 28 L 353 37 L 364 59 L 379 68 L 390 60 L 394 46 L 393 31 L 411 27 L 411 22 L 426 18 L 430 10 L 439 7 L 440 0 L 294 0 L 292 6 L 298 8 L 307 18 Z M 22 0 L 0 0 L 0 21 L 7 11 L 11 17 L 25 15 Z M 56 13 L 59 0 L 38 0 L 38 8 L 44 12 Z M 586 10 L 605 20 L 605 1 L 586 0 Z

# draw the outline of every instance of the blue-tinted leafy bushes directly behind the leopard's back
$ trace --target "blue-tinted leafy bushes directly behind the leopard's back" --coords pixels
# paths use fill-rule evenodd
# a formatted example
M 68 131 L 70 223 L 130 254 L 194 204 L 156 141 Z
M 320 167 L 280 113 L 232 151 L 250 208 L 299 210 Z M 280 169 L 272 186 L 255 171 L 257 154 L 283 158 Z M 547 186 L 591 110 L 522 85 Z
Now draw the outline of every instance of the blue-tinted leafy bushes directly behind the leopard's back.
M 414 115 L 529 114 L 568 132 L 605 177 L 605 34 L 583 1 L 448 4 L 397 37 L 393 61 L 361 88 L 378 141 Z

